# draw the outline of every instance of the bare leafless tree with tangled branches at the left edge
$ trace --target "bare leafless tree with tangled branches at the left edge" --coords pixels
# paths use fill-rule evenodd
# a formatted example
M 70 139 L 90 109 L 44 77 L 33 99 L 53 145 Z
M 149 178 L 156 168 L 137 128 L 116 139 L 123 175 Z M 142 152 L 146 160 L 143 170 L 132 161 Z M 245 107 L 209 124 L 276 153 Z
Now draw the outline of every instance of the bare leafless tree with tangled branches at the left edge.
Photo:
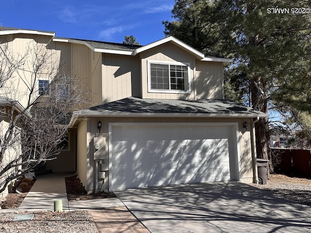
M 87 90 L 68 70 L 45 45 L 18 54 L 0 42 L 0 193 L 55 158 L 71 113 L 86 106 Z

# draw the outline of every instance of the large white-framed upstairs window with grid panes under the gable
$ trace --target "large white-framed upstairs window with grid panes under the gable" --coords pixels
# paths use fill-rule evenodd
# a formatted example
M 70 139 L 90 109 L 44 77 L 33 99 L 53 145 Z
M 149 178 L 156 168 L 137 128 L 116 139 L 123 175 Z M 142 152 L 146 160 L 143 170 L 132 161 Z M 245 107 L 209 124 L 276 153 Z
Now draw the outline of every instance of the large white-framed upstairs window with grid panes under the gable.
M 190 64 L 148 61 L 148 91 L 190 93 Z

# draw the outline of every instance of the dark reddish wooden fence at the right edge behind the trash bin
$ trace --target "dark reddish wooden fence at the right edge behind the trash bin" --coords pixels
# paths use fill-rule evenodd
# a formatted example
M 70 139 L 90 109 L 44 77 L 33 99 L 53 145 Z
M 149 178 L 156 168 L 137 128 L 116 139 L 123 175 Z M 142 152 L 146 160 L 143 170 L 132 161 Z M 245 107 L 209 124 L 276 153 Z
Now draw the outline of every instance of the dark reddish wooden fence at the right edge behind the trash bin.
M 272 148 L 275 173 L 311 178 L 311 150 Z

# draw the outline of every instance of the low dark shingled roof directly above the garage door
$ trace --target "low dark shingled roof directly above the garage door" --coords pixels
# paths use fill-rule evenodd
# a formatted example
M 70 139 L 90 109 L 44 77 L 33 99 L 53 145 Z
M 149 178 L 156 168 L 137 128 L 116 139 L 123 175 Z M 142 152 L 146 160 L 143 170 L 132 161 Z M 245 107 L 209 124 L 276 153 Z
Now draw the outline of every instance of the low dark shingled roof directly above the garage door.
M 266 114 L 232 100 L 159 100 L 135 97 L 90 107 L 74 112 L 74 115 L 266 117 Z

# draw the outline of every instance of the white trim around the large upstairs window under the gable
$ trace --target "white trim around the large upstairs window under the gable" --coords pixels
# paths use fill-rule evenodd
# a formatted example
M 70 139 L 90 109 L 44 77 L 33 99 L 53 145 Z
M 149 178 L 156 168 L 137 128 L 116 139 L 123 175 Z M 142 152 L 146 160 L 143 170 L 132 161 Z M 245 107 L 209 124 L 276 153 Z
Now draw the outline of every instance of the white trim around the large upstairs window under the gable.
M 175 65 L 175 66 L 187 66 L 188 67 L 188 90 L 163 90 L 163 89 L 151 89 L 151 64 L 161 64 L 161 65 Z M 148 60 L 147 61 L 147 69 L 148 69 L 148 92 L 152 93 L 176 93 L 176 94 L 190 94 L 191 93 L 191 69 L 190 63 L 186 62 L 166 62 L 166 61 L 156 61 L 156 60 Z M 186 83 L 185 83 L 186 85 Z

